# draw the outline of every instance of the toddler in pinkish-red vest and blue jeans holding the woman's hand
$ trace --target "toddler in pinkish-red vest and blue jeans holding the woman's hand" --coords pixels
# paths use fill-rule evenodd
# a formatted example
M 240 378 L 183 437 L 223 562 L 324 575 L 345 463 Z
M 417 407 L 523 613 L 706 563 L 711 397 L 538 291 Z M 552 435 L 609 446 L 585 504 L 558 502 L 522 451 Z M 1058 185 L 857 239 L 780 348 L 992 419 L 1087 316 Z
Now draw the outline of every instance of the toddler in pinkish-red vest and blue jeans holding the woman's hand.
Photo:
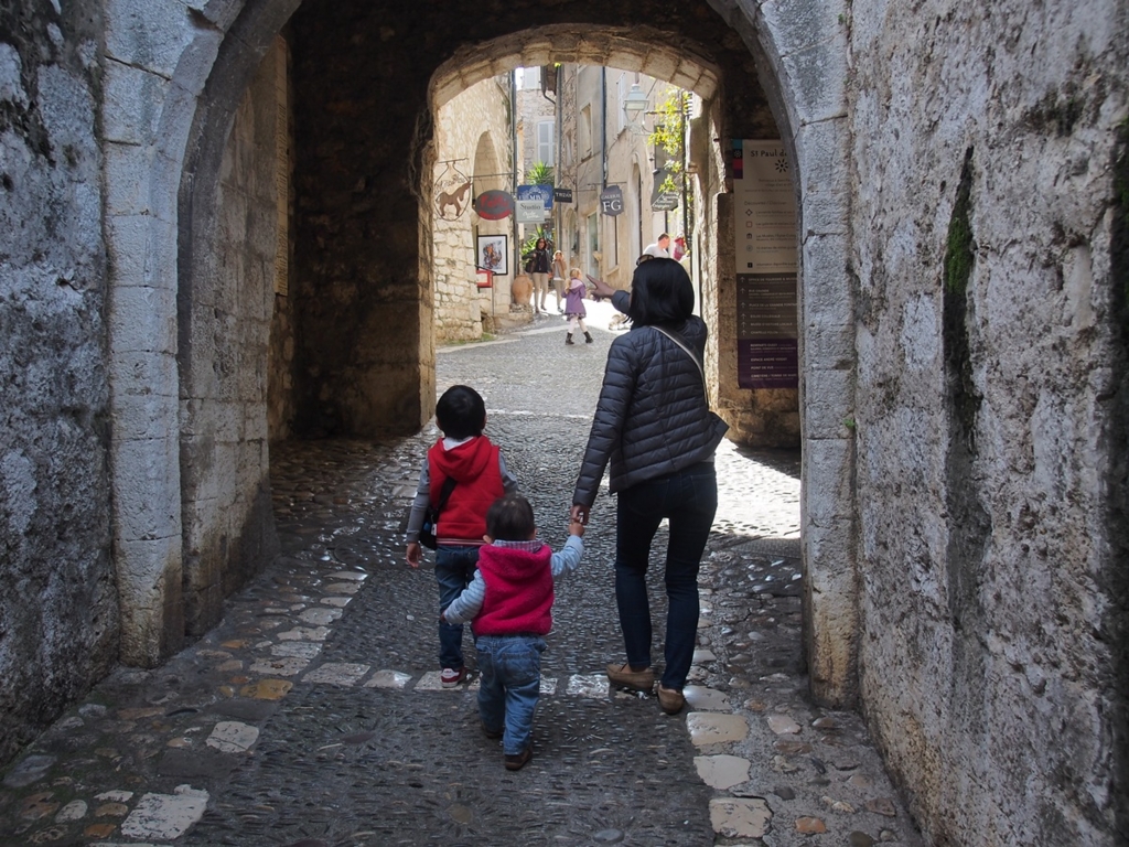
M 507 770 L 533 758 L 533 713 L 541 693 L 541 654 L 552 628 L 553 584 L 576 570 L 584 524 L 569 523 L 559 553 L 537 541 L 533 507 L 506 495 L 487 514 L 479 573 L 444 611 L 450 623 L 473 621 L 479 652 L 479 717 L 489 739 L 502 739 Z

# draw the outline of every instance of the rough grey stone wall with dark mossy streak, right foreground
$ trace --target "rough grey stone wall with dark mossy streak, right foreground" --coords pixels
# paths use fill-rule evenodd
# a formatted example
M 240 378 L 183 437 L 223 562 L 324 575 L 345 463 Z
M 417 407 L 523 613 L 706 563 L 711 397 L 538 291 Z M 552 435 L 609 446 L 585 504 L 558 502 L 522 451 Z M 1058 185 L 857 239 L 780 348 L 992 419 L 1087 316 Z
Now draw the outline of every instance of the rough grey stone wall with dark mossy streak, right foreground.
M 844 26 L 866 715 L 934 844 L 1124 842 L 1126 6 Z

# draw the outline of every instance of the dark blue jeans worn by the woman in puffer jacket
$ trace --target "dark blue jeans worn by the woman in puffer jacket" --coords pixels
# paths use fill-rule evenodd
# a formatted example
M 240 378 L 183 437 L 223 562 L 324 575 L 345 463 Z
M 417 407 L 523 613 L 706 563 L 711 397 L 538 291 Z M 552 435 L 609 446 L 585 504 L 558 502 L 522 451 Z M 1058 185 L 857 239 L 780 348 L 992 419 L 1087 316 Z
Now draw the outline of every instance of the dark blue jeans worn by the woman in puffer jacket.
M 669 521 L 664 688 L 681 691 L 690 673 L 698 636 L 698 567 L 716 513 L 717 473 L 712 462 L 701 462 L 619 492 L 615 602 L 628 664 L 632 667 L 650 666 L 647 565 L 659 523 L 664 517 Z

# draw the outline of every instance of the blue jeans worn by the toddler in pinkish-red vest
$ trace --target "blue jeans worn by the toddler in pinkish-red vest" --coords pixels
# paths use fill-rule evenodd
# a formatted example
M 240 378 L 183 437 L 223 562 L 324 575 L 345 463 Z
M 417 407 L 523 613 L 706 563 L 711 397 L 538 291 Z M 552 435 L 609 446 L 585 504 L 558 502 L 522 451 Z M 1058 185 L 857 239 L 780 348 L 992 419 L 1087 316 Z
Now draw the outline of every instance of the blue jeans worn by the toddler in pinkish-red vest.
M 536 635 L 479 636 L 479 717 L 496 731 L 505 727 L 502 751 L 519 756 L 530 745 L 533 711 L 541 696 L 541 654 Z

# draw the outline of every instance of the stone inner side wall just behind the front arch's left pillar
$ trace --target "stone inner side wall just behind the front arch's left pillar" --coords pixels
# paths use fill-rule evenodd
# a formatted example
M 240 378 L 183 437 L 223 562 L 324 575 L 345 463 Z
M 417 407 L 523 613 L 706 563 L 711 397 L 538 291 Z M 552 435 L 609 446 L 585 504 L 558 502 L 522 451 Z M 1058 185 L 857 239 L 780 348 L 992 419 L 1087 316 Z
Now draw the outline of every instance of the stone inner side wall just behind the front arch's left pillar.
M 182 314 L 184 618 L 202 635 L 224 597 L 275 555 L 266 429 L 268 349 L 275 317 L 277 66 L 281 41 L 251 80 L 226 140 L 218 216 L 195 255 L 191 309 Z M 288 300 L 288 298 L 287 298 Z M 287 304 L 288 305 L 288 304 Z M 286 339 L 280 339 L 286 349 Z M 285 366 L 283 363 L 279 363 Z

